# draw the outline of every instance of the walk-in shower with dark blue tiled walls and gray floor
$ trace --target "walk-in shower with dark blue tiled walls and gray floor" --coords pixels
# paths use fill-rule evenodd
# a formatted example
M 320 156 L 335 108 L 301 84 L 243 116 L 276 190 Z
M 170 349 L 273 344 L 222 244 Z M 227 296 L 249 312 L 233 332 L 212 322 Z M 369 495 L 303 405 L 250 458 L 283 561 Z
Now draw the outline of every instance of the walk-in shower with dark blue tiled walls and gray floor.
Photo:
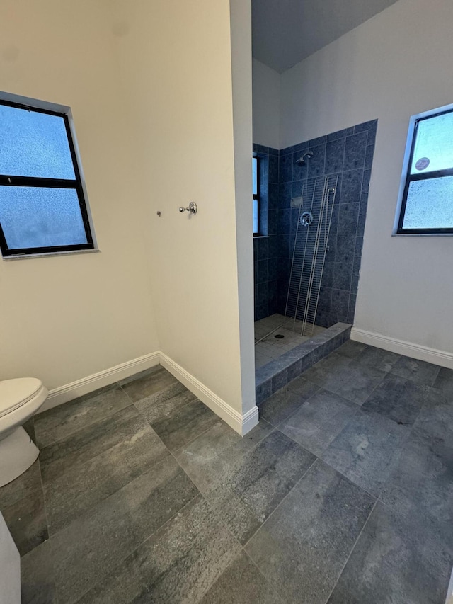
M 262 233 L 255 237 L 253 249 L 258 402 L 263 396 L 261 393 L 258 397 L 259 387 L 263 385 L 260 376 L 269 377 L 288 369 L 287 364 L 279 364 L 282 355 L 290 351 L 296 353 L 299 346 L 307 341 L 316 343 L 321 336 L 328 342 L 329 328 L 342 324 L 347 329 L 346 325 L 354 321 L 376 132 L 377 120 L 372 120 L 285 149 L 253 145 L 253 153 L 260 158 Z M 298 161 L 302 157 L 305 161 Z M 309 204 L 305 192 L 314 189 L 314 183 L 322 184 L 326 177 L 336 182 L 336 190 L 316 326 L 313 334 L 302 336 L 300 321 L 292 321 L 291 317 L 285 321 L 294 241 L 301 196 L 304 210 Z M 315 211 L 313 215 L 316 226 Z M 287 312 L 288 315 L 291 312 Z M 297 314 L 297 319 L 300 318 Z M 275 329 L 279 326 L 280 329 Z M 323 329 L 327 332 L 322 335 Z M 333 337 L 338 339 L 338 333 Z M 326 354 L 331 346 L 328 345 Z M 299 350 L 303 353 L 302 348 Z

